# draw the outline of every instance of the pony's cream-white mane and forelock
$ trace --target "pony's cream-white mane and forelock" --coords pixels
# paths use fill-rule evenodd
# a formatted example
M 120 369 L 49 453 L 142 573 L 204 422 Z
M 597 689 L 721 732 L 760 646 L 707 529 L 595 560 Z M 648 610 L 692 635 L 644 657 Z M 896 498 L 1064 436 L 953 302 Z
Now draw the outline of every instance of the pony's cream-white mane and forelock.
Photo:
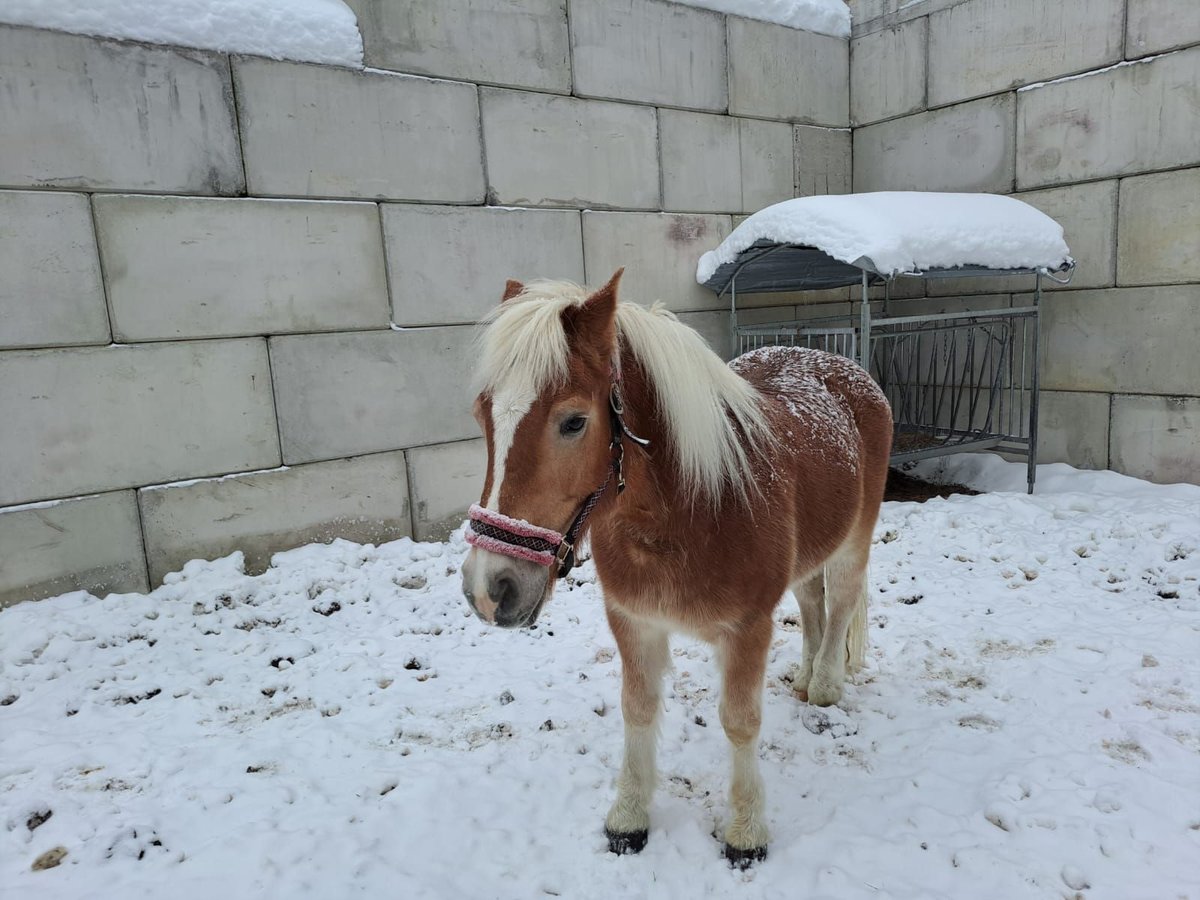
M 570 348 L 563 311 L 587 293 L 564 281 L 532 282 L 482 322 L 479 389 L 530 401 L 562 384 Z M 694 329 L 661 304 L 617 305 L 617 340 L 646 372 L 685 497 L 713 508 L 754 490 L 754 461 L 773 440 L 761 396 Z

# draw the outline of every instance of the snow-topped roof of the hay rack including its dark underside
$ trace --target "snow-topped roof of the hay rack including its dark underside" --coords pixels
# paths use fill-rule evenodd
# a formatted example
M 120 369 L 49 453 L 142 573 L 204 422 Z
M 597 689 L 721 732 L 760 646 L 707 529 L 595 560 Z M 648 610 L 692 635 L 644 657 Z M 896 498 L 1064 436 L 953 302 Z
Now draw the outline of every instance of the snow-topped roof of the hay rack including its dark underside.
M 794 290 L 852 284 L 864 271 L 890 278 L 1073 265 L 1062 226 L 1013 197 L 883 191 L 767 206 L 700 258 L 696 281 L 720 292 L 737 275 L 742 292 Z

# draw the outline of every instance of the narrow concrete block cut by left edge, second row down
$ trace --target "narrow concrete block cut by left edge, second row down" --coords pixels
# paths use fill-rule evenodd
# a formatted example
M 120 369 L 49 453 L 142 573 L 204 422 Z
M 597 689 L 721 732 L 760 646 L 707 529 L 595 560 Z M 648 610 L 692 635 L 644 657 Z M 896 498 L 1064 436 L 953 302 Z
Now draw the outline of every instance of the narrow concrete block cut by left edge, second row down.
M 0 191 L 0 349 L 108 343 L 88 198 Z

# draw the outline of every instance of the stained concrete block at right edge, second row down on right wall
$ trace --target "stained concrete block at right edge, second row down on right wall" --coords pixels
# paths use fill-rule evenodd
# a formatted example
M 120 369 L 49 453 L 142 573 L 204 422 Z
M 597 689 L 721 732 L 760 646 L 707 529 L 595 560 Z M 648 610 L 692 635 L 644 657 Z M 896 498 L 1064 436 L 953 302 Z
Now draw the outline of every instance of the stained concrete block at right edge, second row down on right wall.
M 1016 95 L 1024 190 L 1200 163 L 1200 47 Z

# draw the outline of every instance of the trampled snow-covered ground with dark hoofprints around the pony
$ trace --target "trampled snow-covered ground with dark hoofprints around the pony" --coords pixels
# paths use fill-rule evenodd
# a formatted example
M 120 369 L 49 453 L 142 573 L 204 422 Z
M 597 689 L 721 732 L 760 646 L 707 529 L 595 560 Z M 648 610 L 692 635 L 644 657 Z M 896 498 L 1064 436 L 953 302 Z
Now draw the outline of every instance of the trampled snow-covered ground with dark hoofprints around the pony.
M 1024 488 L 996 460 L 926 468 Z M 1200 898 L 1200 487 L 1060 466 L 1034 497 L 887 504 L 840 708 L 780 682 L 779 608 L 773 842 L 744 874 L 713 836 L 709 649 L 674 643 L 654 830 L 613 857 L 592 569 L 499 631 L 460 598 L 464 548 L 310 546 L 256 577 L 235 554 L 0 613 L 0 895 Z

